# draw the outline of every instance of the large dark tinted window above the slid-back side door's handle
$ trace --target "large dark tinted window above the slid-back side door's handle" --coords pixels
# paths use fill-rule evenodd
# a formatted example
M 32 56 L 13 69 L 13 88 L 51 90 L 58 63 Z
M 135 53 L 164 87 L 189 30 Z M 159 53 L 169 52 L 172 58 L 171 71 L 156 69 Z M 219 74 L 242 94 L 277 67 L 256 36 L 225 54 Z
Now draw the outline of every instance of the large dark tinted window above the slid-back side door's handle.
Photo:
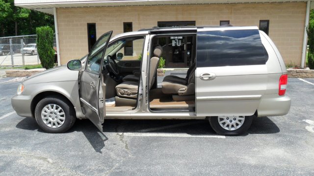
M 263 65 L 268 59 L 259 30 L 197 32 L 196 66 Z

